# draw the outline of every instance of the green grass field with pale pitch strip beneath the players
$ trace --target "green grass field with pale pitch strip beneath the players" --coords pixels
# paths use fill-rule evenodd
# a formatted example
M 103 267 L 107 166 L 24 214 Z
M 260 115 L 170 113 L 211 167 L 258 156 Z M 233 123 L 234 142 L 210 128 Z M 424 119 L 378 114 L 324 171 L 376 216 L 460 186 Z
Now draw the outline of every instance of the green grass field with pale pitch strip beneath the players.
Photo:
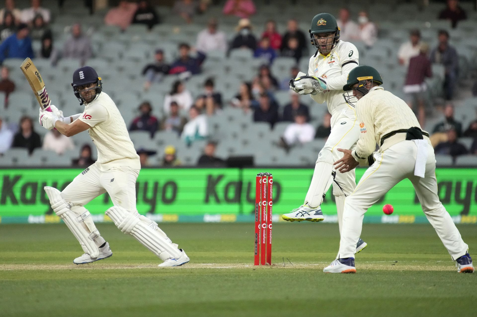
M 113 257 L 76 266 L 83 252 L 64 224 L 1 225 L 0 316 L 435 317 L 477 308 L 477 274 L 457 273 L 429 224 L 365 224 L 357 274 L 322 271 L 338 251 L 335 224 L 274 224 L 272 267 L 252 265 L 251 223 L 160 227 L 190 263 L 158 268 L 134 238 L 99 224 Z M 477 228 L 458 228 L 476 256 Z

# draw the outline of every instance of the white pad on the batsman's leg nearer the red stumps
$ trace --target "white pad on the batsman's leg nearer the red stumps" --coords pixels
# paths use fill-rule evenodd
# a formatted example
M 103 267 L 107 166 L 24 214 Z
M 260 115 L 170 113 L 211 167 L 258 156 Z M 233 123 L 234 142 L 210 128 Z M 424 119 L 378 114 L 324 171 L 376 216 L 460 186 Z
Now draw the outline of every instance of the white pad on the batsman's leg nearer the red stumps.
M 125 234 L 130 234 L 142 245 L 152 251 L 161 260 L 179 258 L 181 252 L 177 245 L 171 243 L 157 223 L 140 215 L 137 211 L 129 212 L 121 206 L 106 210 L 106 215 L 113 220 L 116 227 Z

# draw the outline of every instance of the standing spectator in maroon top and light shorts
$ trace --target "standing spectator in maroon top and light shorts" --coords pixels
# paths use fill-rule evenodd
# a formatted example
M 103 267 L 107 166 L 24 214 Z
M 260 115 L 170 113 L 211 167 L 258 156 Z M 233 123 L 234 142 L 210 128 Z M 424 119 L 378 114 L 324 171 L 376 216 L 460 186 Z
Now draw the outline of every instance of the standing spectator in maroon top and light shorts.
M 426 77 L 432 77 L 431 62 L 427 57 L 429 46 L 425 43 L 420 45 L 420 53 L 409 61 L 404 93 L 407 95 L 407 104 L 417 112 L 417 119 L 421 127 L 425 126 L 425 101 L 427 85 Z M 416 107 L 417 106 L 417 107 Z M 416 109 L 417 108 L 417 109 Z

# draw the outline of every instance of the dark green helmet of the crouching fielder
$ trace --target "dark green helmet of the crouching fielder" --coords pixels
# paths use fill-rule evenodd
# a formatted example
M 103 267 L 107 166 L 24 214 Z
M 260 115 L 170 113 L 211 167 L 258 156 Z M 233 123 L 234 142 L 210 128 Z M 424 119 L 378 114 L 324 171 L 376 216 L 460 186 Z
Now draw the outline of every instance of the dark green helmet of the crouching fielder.
M 361 92 L 363 95 L 367 94 L 369 89 L 366 88 L 366 82 L 371 81 L 378 83 L 379 85 L 383 84 L 383 79 L 379 72 L 371 66 L 358 66 L 353 68 L 350 73 L 348 74 L 348 81 L 346 85 L 343 86 L 343 90 L 346 91 L 343 94 L 344 100 L 354 105 L 355 97 L 353 96 L 353 90 L 357 90 Z M 352 88 L 353 85 L 358 84 L 357 87 Z

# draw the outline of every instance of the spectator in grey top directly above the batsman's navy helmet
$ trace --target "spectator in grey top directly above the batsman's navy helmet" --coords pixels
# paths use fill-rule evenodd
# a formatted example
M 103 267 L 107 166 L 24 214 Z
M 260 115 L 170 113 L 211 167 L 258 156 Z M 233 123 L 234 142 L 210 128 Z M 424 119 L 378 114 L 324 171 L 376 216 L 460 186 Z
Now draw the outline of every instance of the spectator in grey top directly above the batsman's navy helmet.
M 73 24 L 71 34 L 71 37 L 64 42 L 63 57 L 79 59 L 81 65 L 84 65 L 86 60 L 93 56 L 91 41 L 83 34 L 79 23 Z

